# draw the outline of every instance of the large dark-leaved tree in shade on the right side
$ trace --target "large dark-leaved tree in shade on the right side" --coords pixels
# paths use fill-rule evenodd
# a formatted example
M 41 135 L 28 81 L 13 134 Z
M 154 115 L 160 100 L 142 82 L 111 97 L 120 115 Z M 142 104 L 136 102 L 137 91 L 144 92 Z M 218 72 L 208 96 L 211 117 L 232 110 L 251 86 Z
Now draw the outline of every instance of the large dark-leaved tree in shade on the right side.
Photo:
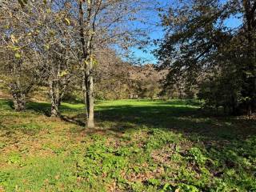
M 155 52 L 160 67 L 174 74 L 166 82 L 174 85 L 182 76 L 190 85 L 203 85 L 203 90 L 211 83 L 214 90 L 230 86 L 229 97 L 225 91 L 218 92 L 219 99 L 226 99 L 216 105 L 231 105 L 234 114 L 244 106 L 248 114 L 255 111 L 255 6 L 247 0 L 190 0 L 171 6 L 162 17 L 166 36 Z M 227 19 L 240 15 L 244 18 L 240 26 L 226 26 Z M 206 92 L 201 91 L 201 98 L 209 99 L 209 94 L 202 93 Z

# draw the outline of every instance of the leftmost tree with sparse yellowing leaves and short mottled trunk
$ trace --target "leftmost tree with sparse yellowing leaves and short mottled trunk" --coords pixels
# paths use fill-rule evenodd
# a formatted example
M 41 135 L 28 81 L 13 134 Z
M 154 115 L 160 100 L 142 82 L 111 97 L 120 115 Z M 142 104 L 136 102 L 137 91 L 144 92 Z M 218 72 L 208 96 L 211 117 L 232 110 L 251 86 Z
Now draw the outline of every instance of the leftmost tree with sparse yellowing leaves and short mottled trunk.
M 14 108 L 20 111 L 25 109 L 27 94 L 45 72 L 33 41 L 40 33 L 40 24 L 33 19 L 36 15 L 33 7 L 26 10 L 16 1 L 2 1 L 0 7 L 0 54 L 5 61 L 1 70 L 14 99 Z

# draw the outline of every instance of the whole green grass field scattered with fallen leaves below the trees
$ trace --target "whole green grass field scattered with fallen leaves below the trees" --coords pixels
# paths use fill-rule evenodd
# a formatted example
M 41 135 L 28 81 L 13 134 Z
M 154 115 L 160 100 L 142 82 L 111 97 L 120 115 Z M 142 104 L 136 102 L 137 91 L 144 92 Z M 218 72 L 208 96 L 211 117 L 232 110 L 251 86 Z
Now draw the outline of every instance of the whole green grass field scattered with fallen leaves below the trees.
M 200 103 L 0 100 L 0 191 L 256 191 L 256 120 L 199 110 Z

